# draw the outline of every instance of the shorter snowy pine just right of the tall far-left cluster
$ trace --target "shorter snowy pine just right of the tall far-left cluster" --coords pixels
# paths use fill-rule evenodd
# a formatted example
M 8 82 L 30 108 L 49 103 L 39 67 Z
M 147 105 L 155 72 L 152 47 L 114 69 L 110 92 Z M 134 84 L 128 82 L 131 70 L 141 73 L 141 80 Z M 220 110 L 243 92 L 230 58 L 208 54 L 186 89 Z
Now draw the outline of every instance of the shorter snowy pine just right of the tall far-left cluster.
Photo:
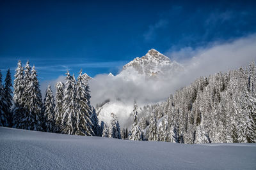
M 44 128 L 46 132 L 54 132 L 54 108 L 55 104 L 52 89 L 51 86 L 48 85 L 44 98 Z

